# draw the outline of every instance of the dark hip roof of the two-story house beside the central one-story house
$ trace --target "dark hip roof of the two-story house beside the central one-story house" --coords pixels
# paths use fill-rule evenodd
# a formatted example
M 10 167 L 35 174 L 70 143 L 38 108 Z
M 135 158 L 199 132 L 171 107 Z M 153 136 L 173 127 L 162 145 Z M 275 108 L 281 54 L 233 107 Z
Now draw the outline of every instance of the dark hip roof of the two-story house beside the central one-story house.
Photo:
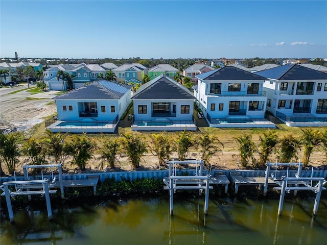
M 216 70 L 197 75 L 197 78 L 206 81 L 212 80 L 263 80 L 264 78 L 249 71 L 234 67 L 224 66 Z

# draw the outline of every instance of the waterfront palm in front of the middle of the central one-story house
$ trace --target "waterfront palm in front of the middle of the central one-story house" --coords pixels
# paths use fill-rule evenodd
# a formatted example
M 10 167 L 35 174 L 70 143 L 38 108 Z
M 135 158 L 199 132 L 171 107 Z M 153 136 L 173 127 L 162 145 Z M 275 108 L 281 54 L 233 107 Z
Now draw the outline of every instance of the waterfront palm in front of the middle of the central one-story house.
M 161 134 L 152 134 L 151 141 L 153 146 L 151 152 L 158 156 L 159 166 L 164 166 L 164 161 L 169 160 L 173 151 L 173 143 L 169 135 L 162 132 Z

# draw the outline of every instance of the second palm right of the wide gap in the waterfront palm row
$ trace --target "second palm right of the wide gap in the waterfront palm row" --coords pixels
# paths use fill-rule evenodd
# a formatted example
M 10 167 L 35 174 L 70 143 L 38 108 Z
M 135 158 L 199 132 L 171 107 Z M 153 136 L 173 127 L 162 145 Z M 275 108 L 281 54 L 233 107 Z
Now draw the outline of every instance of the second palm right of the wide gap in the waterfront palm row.
M 278 143 L 278 135 L 272 131 L 264 132 L 263 135 L 259 135 L 259 140 L 259 164 L 264 166 Z

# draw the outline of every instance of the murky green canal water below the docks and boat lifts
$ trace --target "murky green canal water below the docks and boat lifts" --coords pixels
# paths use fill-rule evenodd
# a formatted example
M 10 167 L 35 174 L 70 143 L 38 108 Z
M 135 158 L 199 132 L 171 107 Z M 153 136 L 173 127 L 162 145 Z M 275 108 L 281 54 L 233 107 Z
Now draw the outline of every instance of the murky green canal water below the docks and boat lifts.
M 128 201 L 77 201 L 53 204 L 49 221 L 45 202 L 1 217 L 5 244 L 327 244 L 327 201 L 312 216 L 314 198 L 278 200 L 174 197 Z M 44 204 L 44 205 L 43 205 Z M 40 208 L 41 207 L 41 208 Z

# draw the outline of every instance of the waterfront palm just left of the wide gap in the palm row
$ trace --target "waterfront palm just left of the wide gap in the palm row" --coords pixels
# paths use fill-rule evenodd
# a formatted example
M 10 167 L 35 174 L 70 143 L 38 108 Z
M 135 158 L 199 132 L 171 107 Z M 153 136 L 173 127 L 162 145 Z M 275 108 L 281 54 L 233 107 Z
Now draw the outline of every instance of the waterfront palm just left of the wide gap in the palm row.
M 200 153 L 204 164 L 207 164 L 212 156 L 222 153 L 222 150 L 217 144 L 220 144 L 224 148 L 224 144 L 217 137 L 209 135 L 208 132 L 199 136 L 196 143 L 200 146 Z

